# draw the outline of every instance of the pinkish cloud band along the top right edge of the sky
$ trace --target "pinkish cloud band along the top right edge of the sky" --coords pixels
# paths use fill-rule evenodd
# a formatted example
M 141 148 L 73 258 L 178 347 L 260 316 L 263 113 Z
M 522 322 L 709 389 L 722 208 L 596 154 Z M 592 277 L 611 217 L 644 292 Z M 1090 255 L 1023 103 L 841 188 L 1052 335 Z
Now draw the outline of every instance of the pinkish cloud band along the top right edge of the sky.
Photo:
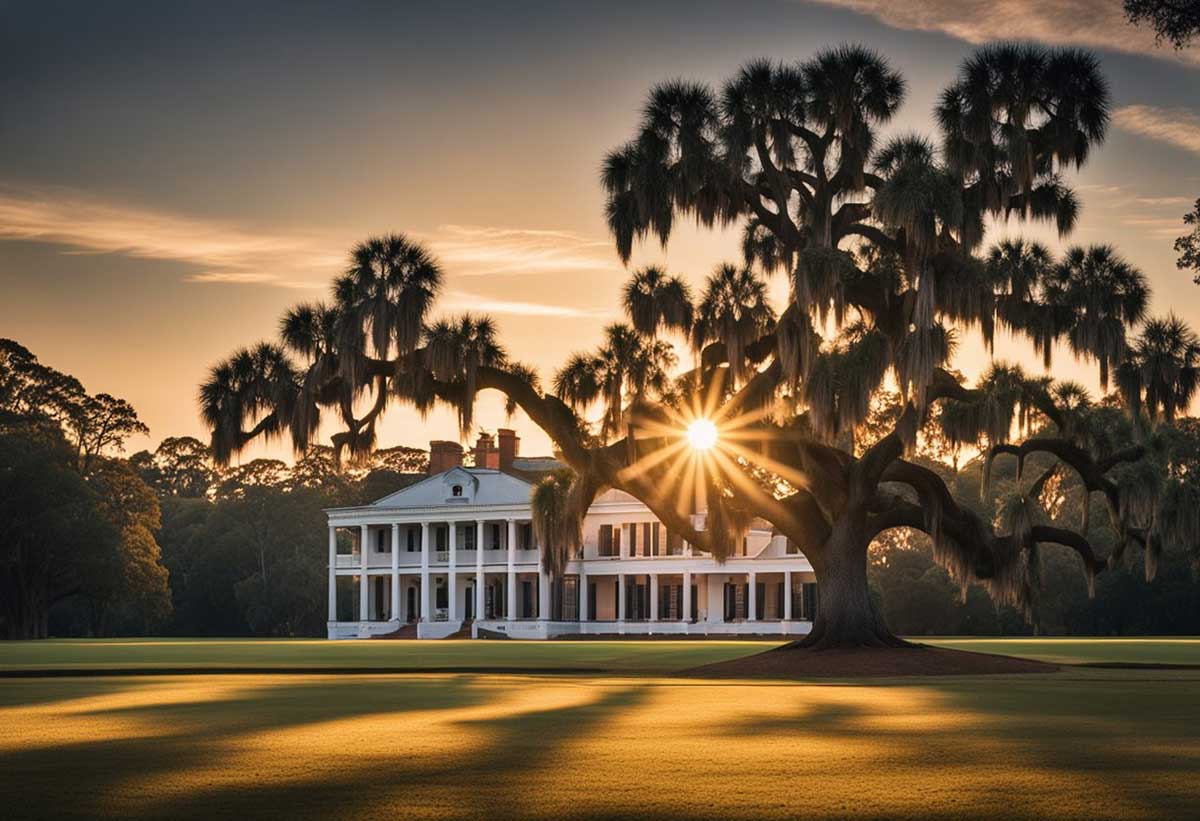
M 1200 67 L 1200 50 L 1156 48 L 1151 30 L 1126 22 L 1121 0 L 811 0 L 895 29 L 940 31 L 968 43 L 1038 40 L 1157 56 Z

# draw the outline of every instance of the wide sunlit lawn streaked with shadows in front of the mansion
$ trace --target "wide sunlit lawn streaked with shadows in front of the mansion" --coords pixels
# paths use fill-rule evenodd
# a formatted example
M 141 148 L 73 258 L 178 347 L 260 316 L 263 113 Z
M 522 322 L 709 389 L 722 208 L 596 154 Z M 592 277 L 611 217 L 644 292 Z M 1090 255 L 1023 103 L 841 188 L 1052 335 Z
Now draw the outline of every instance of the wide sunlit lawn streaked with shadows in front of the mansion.
M 1049 640 L 1022 649 L 1085 660 L 1170 654 L 1184 664 L 1200 649 L 1195 641 L 1182 648 L 1163 641 L 1088 649 Z M 1013 652 L 1008 643 L 953 643 Z M 515 660 L 530 667 L 523 675 L 0 679 L 2 814 L 1098 817 L 1192 816 L 1200 807 L 1200 670 L 812 683 L 662 675 L 760 649 L 745 642 L 2 645 L 2 667 L 77 666 L 84 658 L 109 667 L 227 665 L 233 657 L 284 666 L 382 658 L 384 666 L 416 667 L 432 664 L 430 653 L 440 654 L 439 664 L 468 653 L 479 664 L 482 653 L 498 667 Z M 637 675 L 533 672 L 570 664 Z

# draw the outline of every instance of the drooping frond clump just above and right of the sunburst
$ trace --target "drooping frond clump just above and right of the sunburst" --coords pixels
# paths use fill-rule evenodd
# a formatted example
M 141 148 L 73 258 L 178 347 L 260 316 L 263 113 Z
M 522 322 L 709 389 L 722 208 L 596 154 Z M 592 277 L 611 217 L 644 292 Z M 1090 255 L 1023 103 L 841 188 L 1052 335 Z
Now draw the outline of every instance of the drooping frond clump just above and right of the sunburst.
M 746 348 L 767 334 L 775 323 L 775 310 L 767 301 L 767 283 L 750 268 L 719 265 L 701 295 L 692 325 L 696 350 L 709 342 L 724 342 L 733 384 L 745 380 Z

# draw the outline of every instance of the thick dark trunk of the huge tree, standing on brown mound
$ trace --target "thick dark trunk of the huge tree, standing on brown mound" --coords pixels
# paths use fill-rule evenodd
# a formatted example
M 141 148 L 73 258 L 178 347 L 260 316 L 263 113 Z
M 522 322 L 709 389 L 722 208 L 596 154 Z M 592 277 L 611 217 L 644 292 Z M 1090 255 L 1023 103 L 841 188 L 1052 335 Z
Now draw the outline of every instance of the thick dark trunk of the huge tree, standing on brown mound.
M 907 647 L 892 635 L 875 610 L 866 586 L 865 516 L 846 515 L 834 523 L 812 567 L 817 576 L 817 612 L 812 631 L 791 645 L 834 647 Z

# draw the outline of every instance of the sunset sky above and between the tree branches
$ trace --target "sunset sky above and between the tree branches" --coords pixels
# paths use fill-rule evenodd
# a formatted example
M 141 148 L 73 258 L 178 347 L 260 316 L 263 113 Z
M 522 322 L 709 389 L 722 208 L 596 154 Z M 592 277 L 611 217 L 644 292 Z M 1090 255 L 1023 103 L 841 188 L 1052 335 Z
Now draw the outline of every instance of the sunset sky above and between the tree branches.
M 1114 113 L 1072 175 L 1075 232 L 1012 223 L 989 240 L 1115 244 L 1150 278 L 1152 312 L 1200 328 L 1200 289 L 1171 251 L 1200 196 L 1200 47 L 1156 48 L 1120 5 L 0 0 L 0 336 L 132 402 L 150 426 L 132 449 L 205 438 L 208 370 L 325 298 L 354 242 L 401 232 L 443 264 L 436 313 L 491 313 L 548 380 L 619 319 L 628 270 L 599 168 L 653 84 L 719 84 L 752 58 L 863 43 L 908 82 L 888 132 L 934 136 L 938 91 L 996 38 L 1094 49 Z M 698 287 L 737 256 L 736 234 L 684 228 L 631 266 Z M 782 277 L 773 293 L 786 295 Z M 1021 342 L 996 355 L 1038 367 Z M 988 361 L 965 340 L 960 370 Z M 1054 373 L 1098 386 L 1064 352 Z M 479 424 L 504 426 L 502 406 L 481 398 Z M 550 451 L 511 423 L 522 453 Z M 397 407 L 380 427 L 384 445 L 436 438 L 457 438 L 450 413 Z M 244 459 L 257 455 L 288 454 Z

